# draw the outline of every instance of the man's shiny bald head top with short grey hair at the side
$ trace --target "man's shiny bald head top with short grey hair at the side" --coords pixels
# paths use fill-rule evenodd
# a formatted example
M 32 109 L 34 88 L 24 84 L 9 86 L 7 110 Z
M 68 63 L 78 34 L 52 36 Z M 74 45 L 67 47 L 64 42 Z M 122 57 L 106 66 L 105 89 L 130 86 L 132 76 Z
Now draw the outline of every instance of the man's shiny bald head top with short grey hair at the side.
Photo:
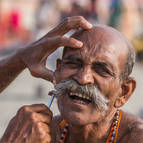
M 121 61 L 120 78 L 126 79 L 131 74 L 135 63 L 135 52 L 130 42 L 116 29 L 96 25 L 91 30 L 78 30 L 71 37 L 83 42 L 82 51 L 88 51 L 91 56 L 96 51 L 103 53 L 110 48 L 112 54 L 118 54 L 118 60 Z M 69 50 L 64 48 L 63 57 Z

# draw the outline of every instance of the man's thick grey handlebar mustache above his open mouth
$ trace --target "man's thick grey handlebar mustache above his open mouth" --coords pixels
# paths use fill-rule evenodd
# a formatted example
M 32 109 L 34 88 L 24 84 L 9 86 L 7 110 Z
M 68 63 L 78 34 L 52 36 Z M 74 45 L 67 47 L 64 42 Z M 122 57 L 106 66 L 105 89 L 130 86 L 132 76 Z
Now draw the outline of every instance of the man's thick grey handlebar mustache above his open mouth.
M 101 91 L 96 85 L 93 84 L 86 84 L 80 85 L 73 79 L 67 79 L 55 86 L 55 91 L 53 94 L 56 97 L 64 95 L 67 91 L 76 91 L 86 96 L 89 96 L 92 101 L 94 102 L 95 106 L 100 110 L 107 110 L 107 103 L 108 100 L 103 96 Z

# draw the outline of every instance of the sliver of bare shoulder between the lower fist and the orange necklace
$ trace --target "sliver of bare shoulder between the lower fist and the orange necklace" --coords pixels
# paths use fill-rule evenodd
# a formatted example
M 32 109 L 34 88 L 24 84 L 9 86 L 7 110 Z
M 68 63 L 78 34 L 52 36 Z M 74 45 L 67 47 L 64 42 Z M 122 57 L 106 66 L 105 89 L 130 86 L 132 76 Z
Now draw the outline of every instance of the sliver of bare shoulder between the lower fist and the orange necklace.
M 51 137 L 52 141 L 51 143 L 57 142 L 57 140 L 60 138 L 60 122 L 62 121 L 62 118 L 60 115 L 54 116 L 51 122 Z

